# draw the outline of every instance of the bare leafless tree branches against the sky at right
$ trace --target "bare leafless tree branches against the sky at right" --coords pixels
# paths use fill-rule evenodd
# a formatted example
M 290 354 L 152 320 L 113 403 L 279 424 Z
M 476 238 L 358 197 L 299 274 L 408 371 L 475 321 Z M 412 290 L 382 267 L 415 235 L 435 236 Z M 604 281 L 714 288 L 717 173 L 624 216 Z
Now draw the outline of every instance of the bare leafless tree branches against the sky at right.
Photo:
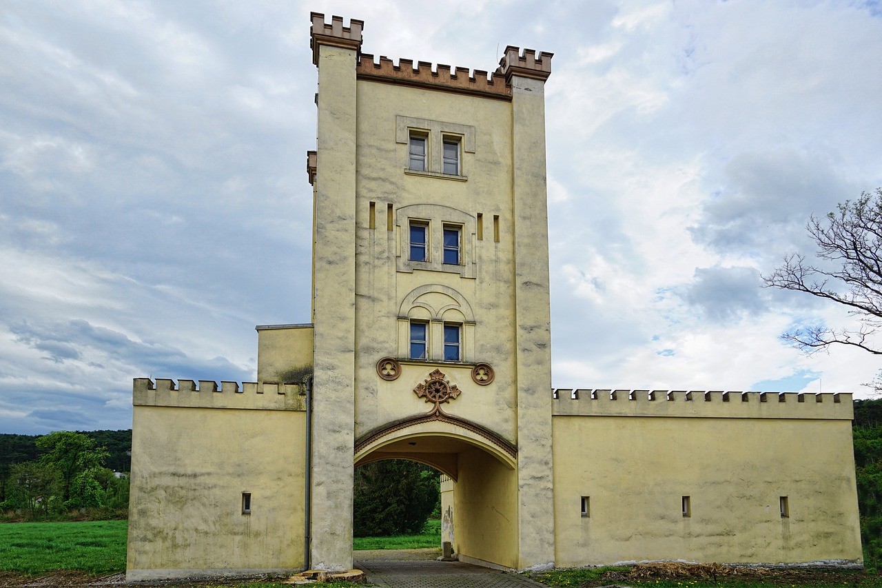
M 790 253 L 784 265 L 764 275 L 763 281 L 766 286 L 845 306 L 858 324 L 856 328 L 798 328 L 781 337 L 808 353 L 845 345 L 882 355 L 882 348 L 873 341 L 882 327 L 882 188 L 862 192 L 857 200 L 846 200 L 824 217 L 812 215 L 806 230 L 818 245 L 820 263 Z M 882 372 L 871 385 L 882 391 Z

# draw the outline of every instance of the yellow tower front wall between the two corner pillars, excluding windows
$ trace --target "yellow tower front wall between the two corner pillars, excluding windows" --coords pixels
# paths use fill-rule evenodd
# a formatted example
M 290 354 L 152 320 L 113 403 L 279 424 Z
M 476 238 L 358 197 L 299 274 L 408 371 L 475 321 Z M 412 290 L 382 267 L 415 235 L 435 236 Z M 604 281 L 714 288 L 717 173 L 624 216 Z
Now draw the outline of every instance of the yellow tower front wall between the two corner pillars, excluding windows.
M 359 80 L 357 106 L 355 287 L 360 296 L 355 303 L 355 436 L 429 411 L 431 405 L 417 398 L 413 389 L 438 367 L 463 390 L 456 401 L 445 405 L 445 411 L 516 441 L 516 413 L 499 410 L 514 405 L 517 389 L 513 275 L 505 270 L 513 260 L 511 102 Z M 466 179 L 406 171 L 407 143 L 396 140 L 400 117 L 418 118 L 422 123 L 414 124 L 434 125 L 440 130 L 472 127 L 474 153 L 462 150 Z M 374 229 L 370 229 L 371 201 L 376 211 Z M 480 240 L 476 235 L 478 214 L 484 225 Z M 498 243 L 492 230 L 494 215 L 501 226 Z M 430 247 L 436 260 L 441 254 L 442 224 L 462 222 L 462 266 L 407 267 L 408 218 L 430 222 Z M 321 279 L 319 275 L 317 279 Z M 408 294 L 421 287 L 428 287 L 427 291 L 406 302 Z M 445 293 L 451 290 L 453 297 L 460 296 Z M 408 317 L 432 321 L 430 355 L 436 358 L 442 351 L 436 336 L 442 332 L 442 321 L 465 323 L 464 358 L 473 364 L 489 363 L 496 371 L 496 381 L 479 387 L 471 381 L 471 365 L 441 361 L 405 362 L 398 380 L 379 378 L 377 360 L 407 358 Z

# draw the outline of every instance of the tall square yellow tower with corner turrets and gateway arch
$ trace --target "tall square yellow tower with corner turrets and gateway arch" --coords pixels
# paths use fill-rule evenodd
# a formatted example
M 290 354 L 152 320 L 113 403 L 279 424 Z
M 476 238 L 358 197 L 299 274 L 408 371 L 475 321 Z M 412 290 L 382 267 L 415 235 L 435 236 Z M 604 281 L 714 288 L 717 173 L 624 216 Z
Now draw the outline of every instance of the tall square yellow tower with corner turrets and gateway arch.
M 351 566 L 353 459 L 389 457 L 452 479 L 460 559 L 551 565 L 551 54 L 394 64 L 362 27 L 312 14 L 312 566 Z

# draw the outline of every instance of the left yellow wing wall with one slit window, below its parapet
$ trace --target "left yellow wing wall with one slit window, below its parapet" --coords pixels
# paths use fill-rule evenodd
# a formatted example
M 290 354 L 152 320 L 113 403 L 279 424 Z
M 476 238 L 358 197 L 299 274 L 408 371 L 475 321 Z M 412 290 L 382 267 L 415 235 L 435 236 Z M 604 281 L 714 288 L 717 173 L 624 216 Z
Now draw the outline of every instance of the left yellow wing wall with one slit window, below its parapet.
M 305 422 L 136 405 L 128 581 L 303 569 Z

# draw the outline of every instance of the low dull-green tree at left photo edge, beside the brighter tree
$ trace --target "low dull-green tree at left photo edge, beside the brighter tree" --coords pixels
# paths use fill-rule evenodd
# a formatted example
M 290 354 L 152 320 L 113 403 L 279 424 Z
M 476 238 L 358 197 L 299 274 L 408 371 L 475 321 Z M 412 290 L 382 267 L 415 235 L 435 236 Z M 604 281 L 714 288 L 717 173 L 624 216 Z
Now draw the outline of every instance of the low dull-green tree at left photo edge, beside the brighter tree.
M 49 518 L 62 506 L 61 472 L 51 464 L 14 464 L 6 479 L 5 504 L 29 519 Z

